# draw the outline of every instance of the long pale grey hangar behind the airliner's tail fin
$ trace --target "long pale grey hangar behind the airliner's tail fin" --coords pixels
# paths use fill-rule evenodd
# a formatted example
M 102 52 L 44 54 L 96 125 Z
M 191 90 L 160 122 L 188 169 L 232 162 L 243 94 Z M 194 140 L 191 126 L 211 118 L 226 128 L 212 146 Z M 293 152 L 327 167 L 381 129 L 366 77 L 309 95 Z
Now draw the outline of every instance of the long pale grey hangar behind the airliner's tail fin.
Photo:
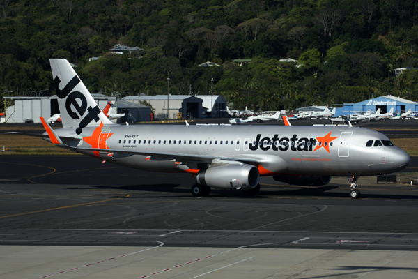
M 130 102 L 118 100 L 103 94 L 91 94 L 99 107 L 103 110 L 109 101 L 116 101 L 117 112 L 128 110 L 128 114 L 118 122 L 126 121 L 150 121 L 151 109 L 144 105 L 135 105 Z M 40 123 L 40 117 L 49 119 L 54 114 L 59 114 L 58 99 L 54 96 L 4 96 L 4 109 L 6 112 L 6 123 L 24 123 L 33 121 Z M 112 112 L 116 114 L 116 112 Z

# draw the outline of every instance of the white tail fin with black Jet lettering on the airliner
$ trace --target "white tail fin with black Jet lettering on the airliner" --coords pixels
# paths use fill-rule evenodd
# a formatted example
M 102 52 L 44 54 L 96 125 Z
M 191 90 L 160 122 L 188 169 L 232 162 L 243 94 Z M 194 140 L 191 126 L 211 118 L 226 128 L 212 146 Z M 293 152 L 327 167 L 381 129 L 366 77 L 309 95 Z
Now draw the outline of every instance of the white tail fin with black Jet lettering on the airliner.
M 75 128 L 77 135 L 89 126 L 114 125 L 100 110 L 90 92 L 66 59 L 49 59 L 58 97 L 63 128 Z

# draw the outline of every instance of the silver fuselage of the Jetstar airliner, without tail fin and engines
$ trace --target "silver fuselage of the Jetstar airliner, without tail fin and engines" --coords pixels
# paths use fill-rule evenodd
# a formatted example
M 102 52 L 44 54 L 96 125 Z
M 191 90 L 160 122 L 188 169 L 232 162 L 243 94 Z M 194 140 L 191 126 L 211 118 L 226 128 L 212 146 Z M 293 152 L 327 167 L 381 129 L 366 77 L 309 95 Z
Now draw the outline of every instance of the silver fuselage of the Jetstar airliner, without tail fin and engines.
M 65 137 L 65 130 L 55 131 Z M 410 160 L 396 146 L 366 146 L 390 141 L 382 133 L 355 127 L 115 125 L 84 128 L 80 136 L 81 153 L 158 172 L 199 169 L 212 158 L 240 158 L 261 162 L 261 175 L 364 176 L 396 172 Z

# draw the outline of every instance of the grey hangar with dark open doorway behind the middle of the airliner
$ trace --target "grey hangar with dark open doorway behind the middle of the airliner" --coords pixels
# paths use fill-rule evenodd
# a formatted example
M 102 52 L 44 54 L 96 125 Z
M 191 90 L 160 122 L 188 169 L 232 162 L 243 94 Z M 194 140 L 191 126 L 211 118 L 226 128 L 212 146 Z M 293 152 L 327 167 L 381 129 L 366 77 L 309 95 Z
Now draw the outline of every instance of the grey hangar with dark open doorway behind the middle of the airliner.
M 127 96 L 123 100 L 132 103 L 146 102 L 153 110 L 157 118 L 167 118 L 167 107 L 171 119 L 176 118 L 207 118 L 228 117 L 226 112 L 226 100 L 219 95 L 157 95 L 157 96 Z M 167 105 L 168 101 L 168 105 Z M 164 117 L 165 116 L 165 117 Z

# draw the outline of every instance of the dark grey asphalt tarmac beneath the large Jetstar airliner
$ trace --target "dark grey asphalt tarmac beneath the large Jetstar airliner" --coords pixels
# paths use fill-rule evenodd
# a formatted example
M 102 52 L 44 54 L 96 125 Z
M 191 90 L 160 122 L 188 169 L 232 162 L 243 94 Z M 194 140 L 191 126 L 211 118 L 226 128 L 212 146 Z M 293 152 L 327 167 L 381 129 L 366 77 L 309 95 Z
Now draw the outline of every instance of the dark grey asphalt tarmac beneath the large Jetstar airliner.
M 345 178 L 266 177 L 257 197 L 196 198 L 190 174 L 86 156 L 1 154 L 0 169 L 0 278 L 417 277 L 416 183 L 361 177 L 350 199 Z

